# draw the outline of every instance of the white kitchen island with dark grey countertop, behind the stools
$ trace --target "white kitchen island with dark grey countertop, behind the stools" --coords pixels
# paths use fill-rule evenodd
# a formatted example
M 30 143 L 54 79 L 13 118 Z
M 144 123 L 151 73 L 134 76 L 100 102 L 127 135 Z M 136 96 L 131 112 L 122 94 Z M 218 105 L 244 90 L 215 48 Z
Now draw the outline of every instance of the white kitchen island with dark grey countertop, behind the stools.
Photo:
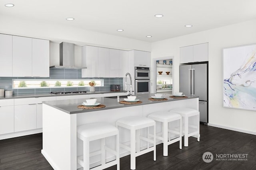
M 151 94 L 153 95 L 153 94 Z M 148 116 L 156 111 L 169 111 L 178 107 L 198 110 L 198 97 L 173 99 L 166 96 L 166 101 L 150 101 L 150 94 L 138 95 L 141 104 L 120 104 L 114 98 L 96 98 L 106 107 L 100 109 L 79 109 L 85 99 L 58 100 L 43 102 L 43 149 L 42 154 L 56 170 L 75 170 L 76 157 L 82 155 L 82 142 L 76 139 L 76 127 L 85 123 L 107 122 L 115 125 L 116 121 L 127 116 Z M 120 98 L 120 101 L 123 100 Z M 158 129 L 158 127 L 157 127 Z M 120 134 L 120 141 L 129 141 L 127 134 Z M 126 133 L 125 132 L 125 133 Z M 111 139 L 110 139 L 111 143 Z M 97 146 L 92 145 L 92 150 Z M 120 157 L 129 154 L 120 150 Z M 112 157 L 107 155 L 108 160 Z M 92 160 L 96 166 L 98 158 Z

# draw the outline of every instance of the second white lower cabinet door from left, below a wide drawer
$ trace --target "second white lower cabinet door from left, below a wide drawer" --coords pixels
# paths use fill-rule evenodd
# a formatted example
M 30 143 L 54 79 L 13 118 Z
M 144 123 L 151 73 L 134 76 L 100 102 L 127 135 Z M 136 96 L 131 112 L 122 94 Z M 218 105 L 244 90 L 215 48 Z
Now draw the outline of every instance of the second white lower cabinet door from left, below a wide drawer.
M 36 129 L 36 104 L 14 106 L 14 132 Z

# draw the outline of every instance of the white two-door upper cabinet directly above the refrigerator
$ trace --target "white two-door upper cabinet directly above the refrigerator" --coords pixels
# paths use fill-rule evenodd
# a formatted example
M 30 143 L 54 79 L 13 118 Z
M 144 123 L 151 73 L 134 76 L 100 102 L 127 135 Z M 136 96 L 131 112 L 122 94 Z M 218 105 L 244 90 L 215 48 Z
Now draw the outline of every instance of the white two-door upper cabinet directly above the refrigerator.
M 180 63 L 208 61 L 208 43 L 180 47 Z

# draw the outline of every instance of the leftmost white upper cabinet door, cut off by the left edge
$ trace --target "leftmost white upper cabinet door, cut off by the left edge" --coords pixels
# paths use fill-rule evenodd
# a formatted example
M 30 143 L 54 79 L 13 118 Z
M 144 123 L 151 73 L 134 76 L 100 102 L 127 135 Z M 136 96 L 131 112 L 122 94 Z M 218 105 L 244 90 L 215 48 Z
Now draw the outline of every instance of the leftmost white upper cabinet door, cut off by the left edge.
M 0 77 L 12 77 L 12 35 L 0 34 Z

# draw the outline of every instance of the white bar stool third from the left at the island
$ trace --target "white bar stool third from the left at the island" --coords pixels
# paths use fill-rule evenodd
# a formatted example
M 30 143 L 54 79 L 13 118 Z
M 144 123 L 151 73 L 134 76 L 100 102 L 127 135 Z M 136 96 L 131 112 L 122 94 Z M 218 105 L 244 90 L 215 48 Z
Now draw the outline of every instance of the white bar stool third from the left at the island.
M 156 134 L 156 139 L 161 140 L 164 144 L 164 156 L 168 156 L 168 145 L 172 143 L 180 141 L 180 149 L 182 149 L 182 117 L 180 114 L 169 111 L 159 111 L 151 113 L 148 115 L 148 118 L 159 121 L 162 124 L 162 132 Z M 179 121 L 179 127 L 171 128 L 171 123 L 177 120 Z M 176 134 L 174 139 L 171 139 L 172 134 Z

